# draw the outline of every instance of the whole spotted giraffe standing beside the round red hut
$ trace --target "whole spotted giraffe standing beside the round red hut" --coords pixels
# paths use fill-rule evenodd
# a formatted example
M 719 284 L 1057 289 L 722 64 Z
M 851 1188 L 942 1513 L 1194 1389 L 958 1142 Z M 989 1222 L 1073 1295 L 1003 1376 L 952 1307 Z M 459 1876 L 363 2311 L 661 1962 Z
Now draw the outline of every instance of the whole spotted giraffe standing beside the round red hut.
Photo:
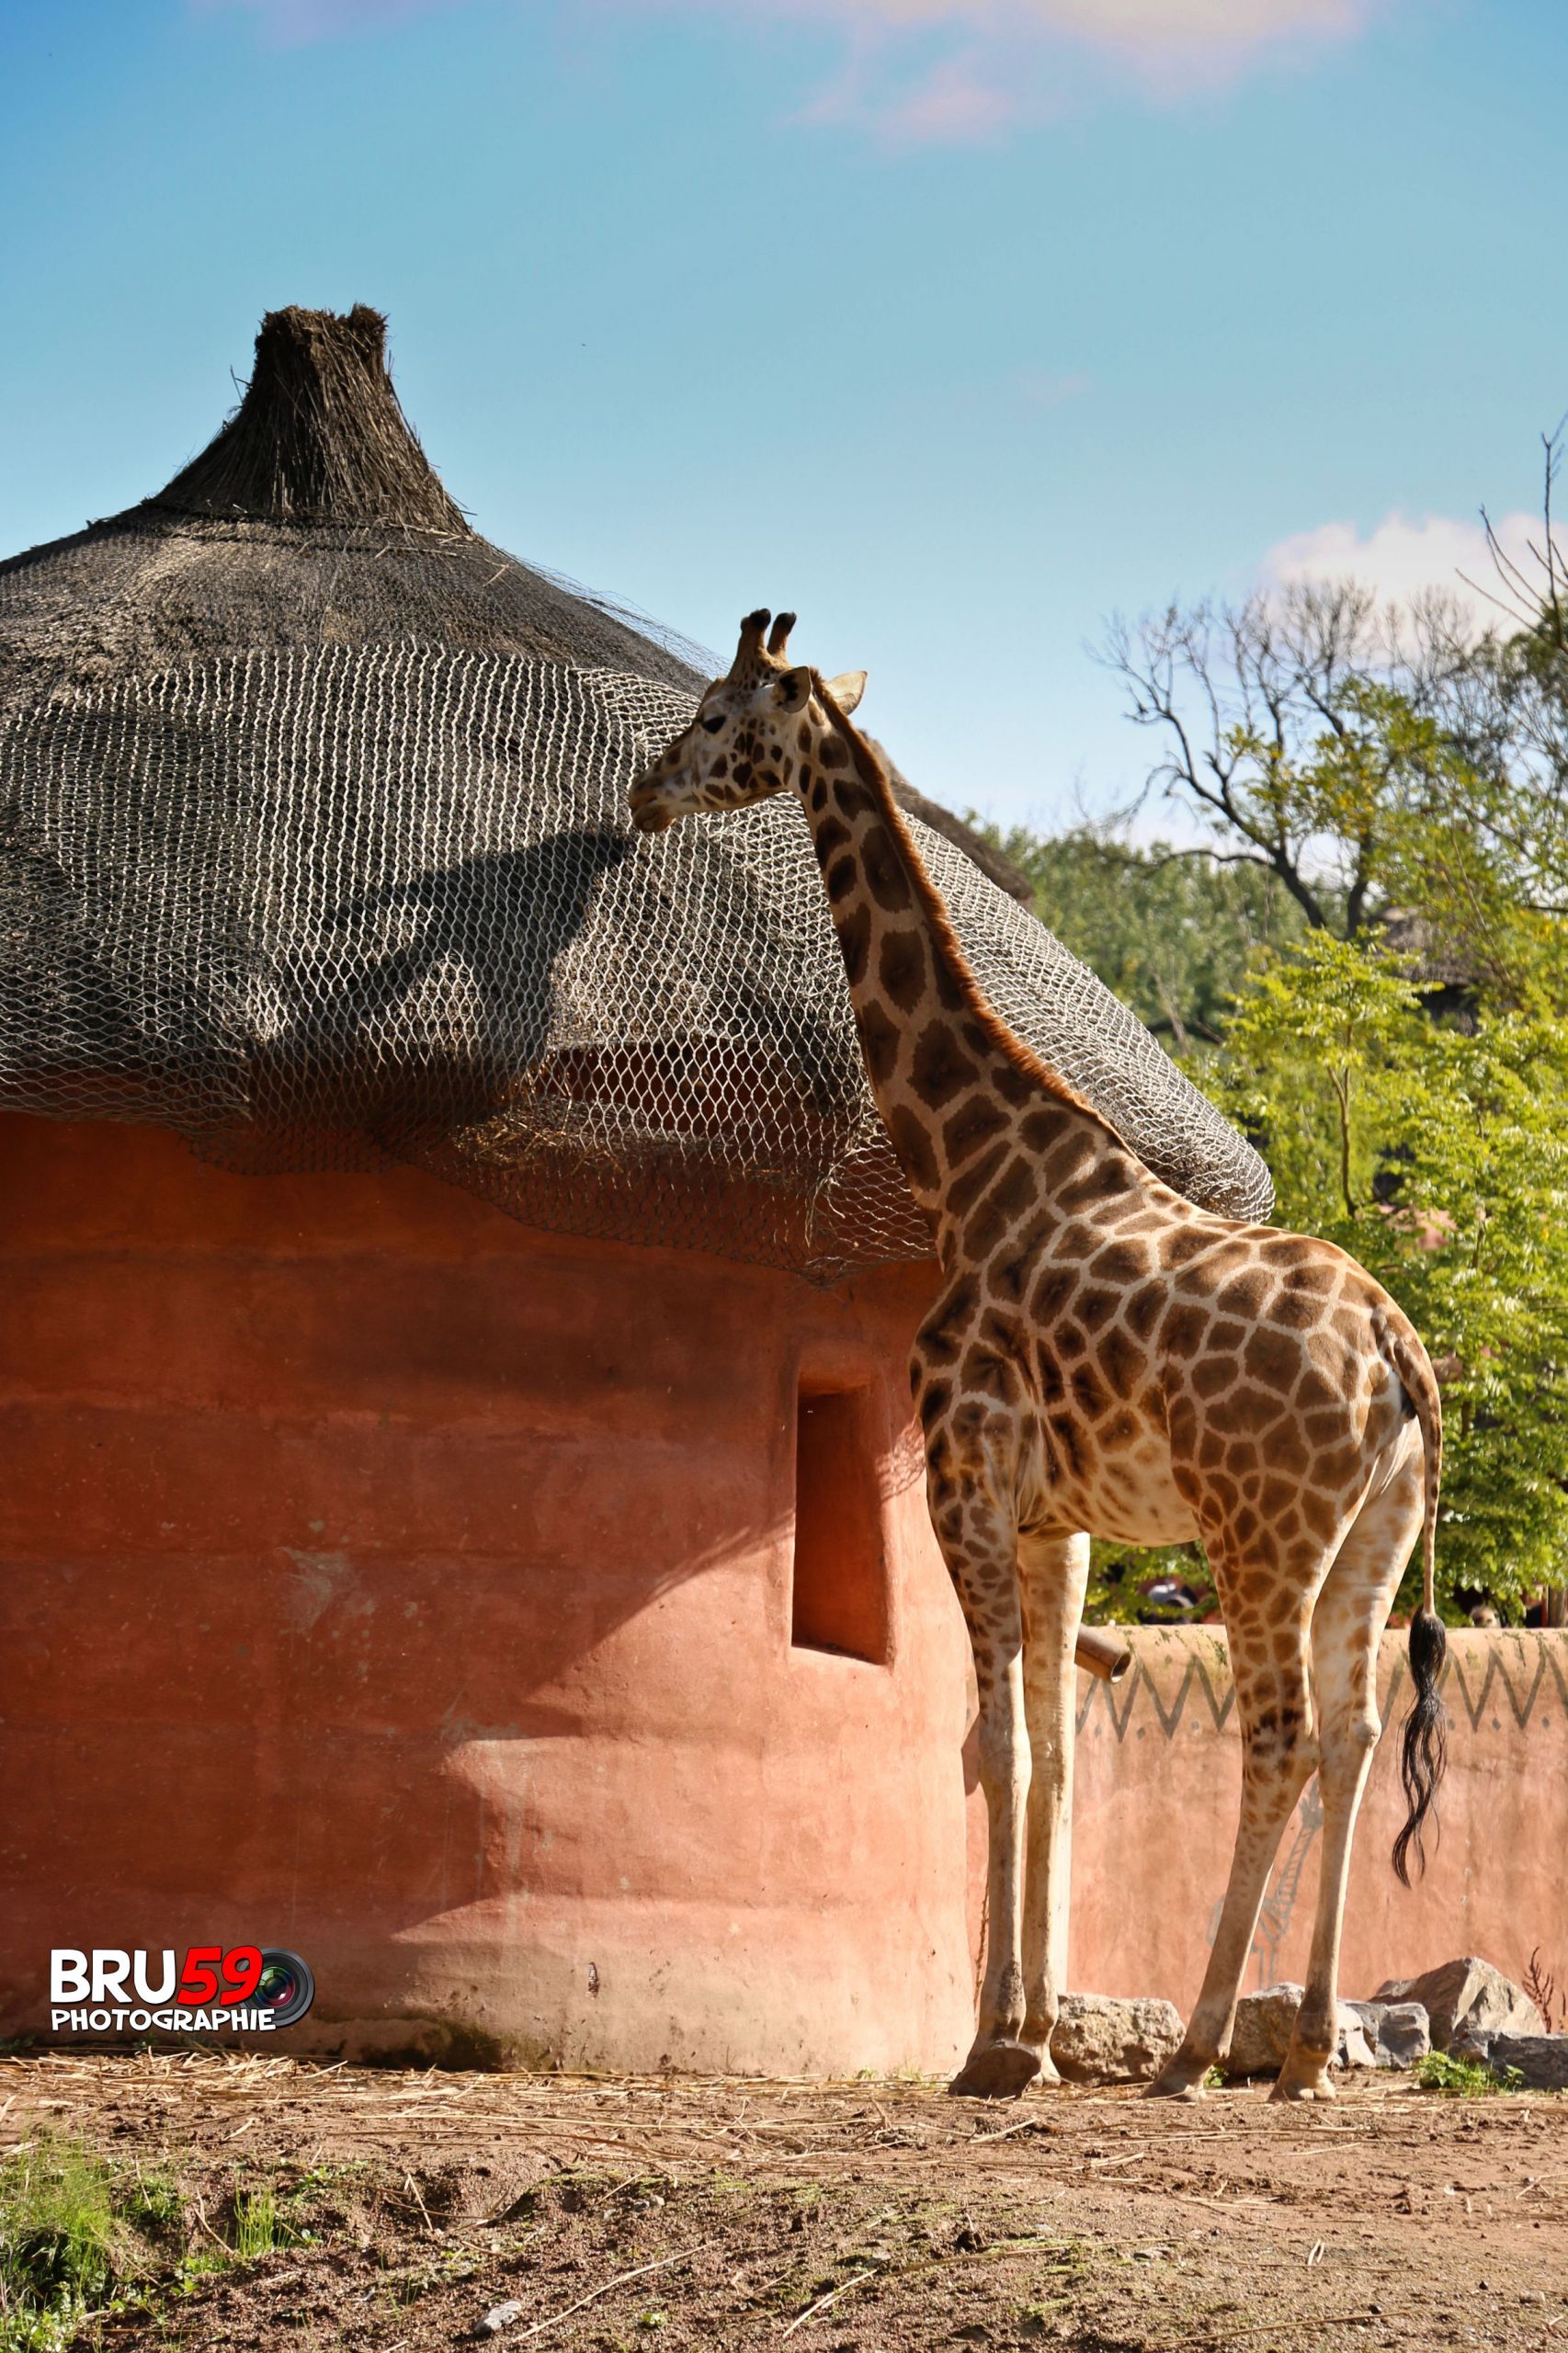
M 1156 2094 L 1224 2057 L 1274 1854 L 1318 1774 L 1307 1993 L 1276 2099 L 1330 2099 L 1356 1812 L 1380 1734 L 1377 1635 L 1422 1539 L 1403 1732 L 1406 1880 L 1443 1769 L 1431 1602 L 1441 1407 L 1427 1353 L 1330 1242 L 1238 1224 L 1161 1184 L 984 998 L 852 725 L 864 671 L 791 666 L 793 614 L 753 612 L 725 678 L 631 786 L 640 833 L 793 791 L 878 1111 L 942 1289 L 911 1351 L 928 1501 L 975 1654 L 989 1951 L 951 2087 L 1055 2082 L 1074 1638 L 1088 1534 L 1201 1537 L 1243 1739 L 1231 1873 L 1203 1988 Z

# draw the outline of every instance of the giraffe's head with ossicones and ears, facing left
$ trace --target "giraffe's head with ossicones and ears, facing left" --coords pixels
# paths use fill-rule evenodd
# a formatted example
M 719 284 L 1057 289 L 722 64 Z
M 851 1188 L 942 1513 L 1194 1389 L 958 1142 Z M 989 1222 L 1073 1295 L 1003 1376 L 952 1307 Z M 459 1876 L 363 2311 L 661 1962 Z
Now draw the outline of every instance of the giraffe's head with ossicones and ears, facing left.
M 697 718 L 631 786 L 631 819 L 640 833 L 662 833 L 695 809 L 744 809 L 798 784 L 812 736 L 829 720 L 812 696 L 826 692 L 855 711 L 866 692 L 864 671 L 845 671 L 826 689 L 815 671 L 789 664 L 793 612 L 749 612 L 735 661 L 697 706 Z M 805 725 L 805 736 L 803 736 Z

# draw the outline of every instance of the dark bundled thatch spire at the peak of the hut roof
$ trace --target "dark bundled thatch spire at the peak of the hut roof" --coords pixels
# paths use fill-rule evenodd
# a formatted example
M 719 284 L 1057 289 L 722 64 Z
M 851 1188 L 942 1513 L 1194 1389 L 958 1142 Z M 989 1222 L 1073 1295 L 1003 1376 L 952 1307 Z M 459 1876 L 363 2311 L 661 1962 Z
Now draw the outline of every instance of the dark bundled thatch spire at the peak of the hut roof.
M 365 304 L 268 311 L 245 400 L 148 506 L 473 536 L 398 405 L 386 320 Z

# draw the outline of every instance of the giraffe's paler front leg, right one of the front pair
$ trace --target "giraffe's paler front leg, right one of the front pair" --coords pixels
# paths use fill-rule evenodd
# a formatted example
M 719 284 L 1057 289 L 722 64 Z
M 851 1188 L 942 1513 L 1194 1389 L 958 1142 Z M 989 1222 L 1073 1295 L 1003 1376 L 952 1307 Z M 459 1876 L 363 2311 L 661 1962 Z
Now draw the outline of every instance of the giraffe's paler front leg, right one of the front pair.
M 1088 1537 L 1022 1537 L 1024 1720 L 1029 1727 L 1029 1817 L 1024 1854 L 1024 2033 L 1041 2078 L 1050 2061 L 1057 1998 L 1067 1974 L 1071 1873 L 1076 1671 L 1074 1642 L 1088 1586 Z

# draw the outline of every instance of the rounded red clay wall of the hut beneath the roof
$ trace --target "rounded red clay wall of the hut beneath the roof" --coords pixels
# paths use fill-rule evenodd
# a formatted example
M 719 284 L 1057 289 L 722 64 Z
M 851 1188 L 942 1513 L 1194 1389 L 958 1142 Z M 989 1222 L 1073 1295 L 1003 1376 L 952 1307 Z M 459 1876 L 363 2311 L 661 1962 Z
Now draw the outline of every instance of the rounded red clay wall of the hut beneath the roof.
M 134 1127 L 7 1120 L 0 1169 L 0 2033 L 49 1946 L 259 1941 L 318 2045 L 956 2049 L 918 1271 L 819 1294 Z M 803 1369 L 866 1384 L 885 1666 L 791 1645 Z

